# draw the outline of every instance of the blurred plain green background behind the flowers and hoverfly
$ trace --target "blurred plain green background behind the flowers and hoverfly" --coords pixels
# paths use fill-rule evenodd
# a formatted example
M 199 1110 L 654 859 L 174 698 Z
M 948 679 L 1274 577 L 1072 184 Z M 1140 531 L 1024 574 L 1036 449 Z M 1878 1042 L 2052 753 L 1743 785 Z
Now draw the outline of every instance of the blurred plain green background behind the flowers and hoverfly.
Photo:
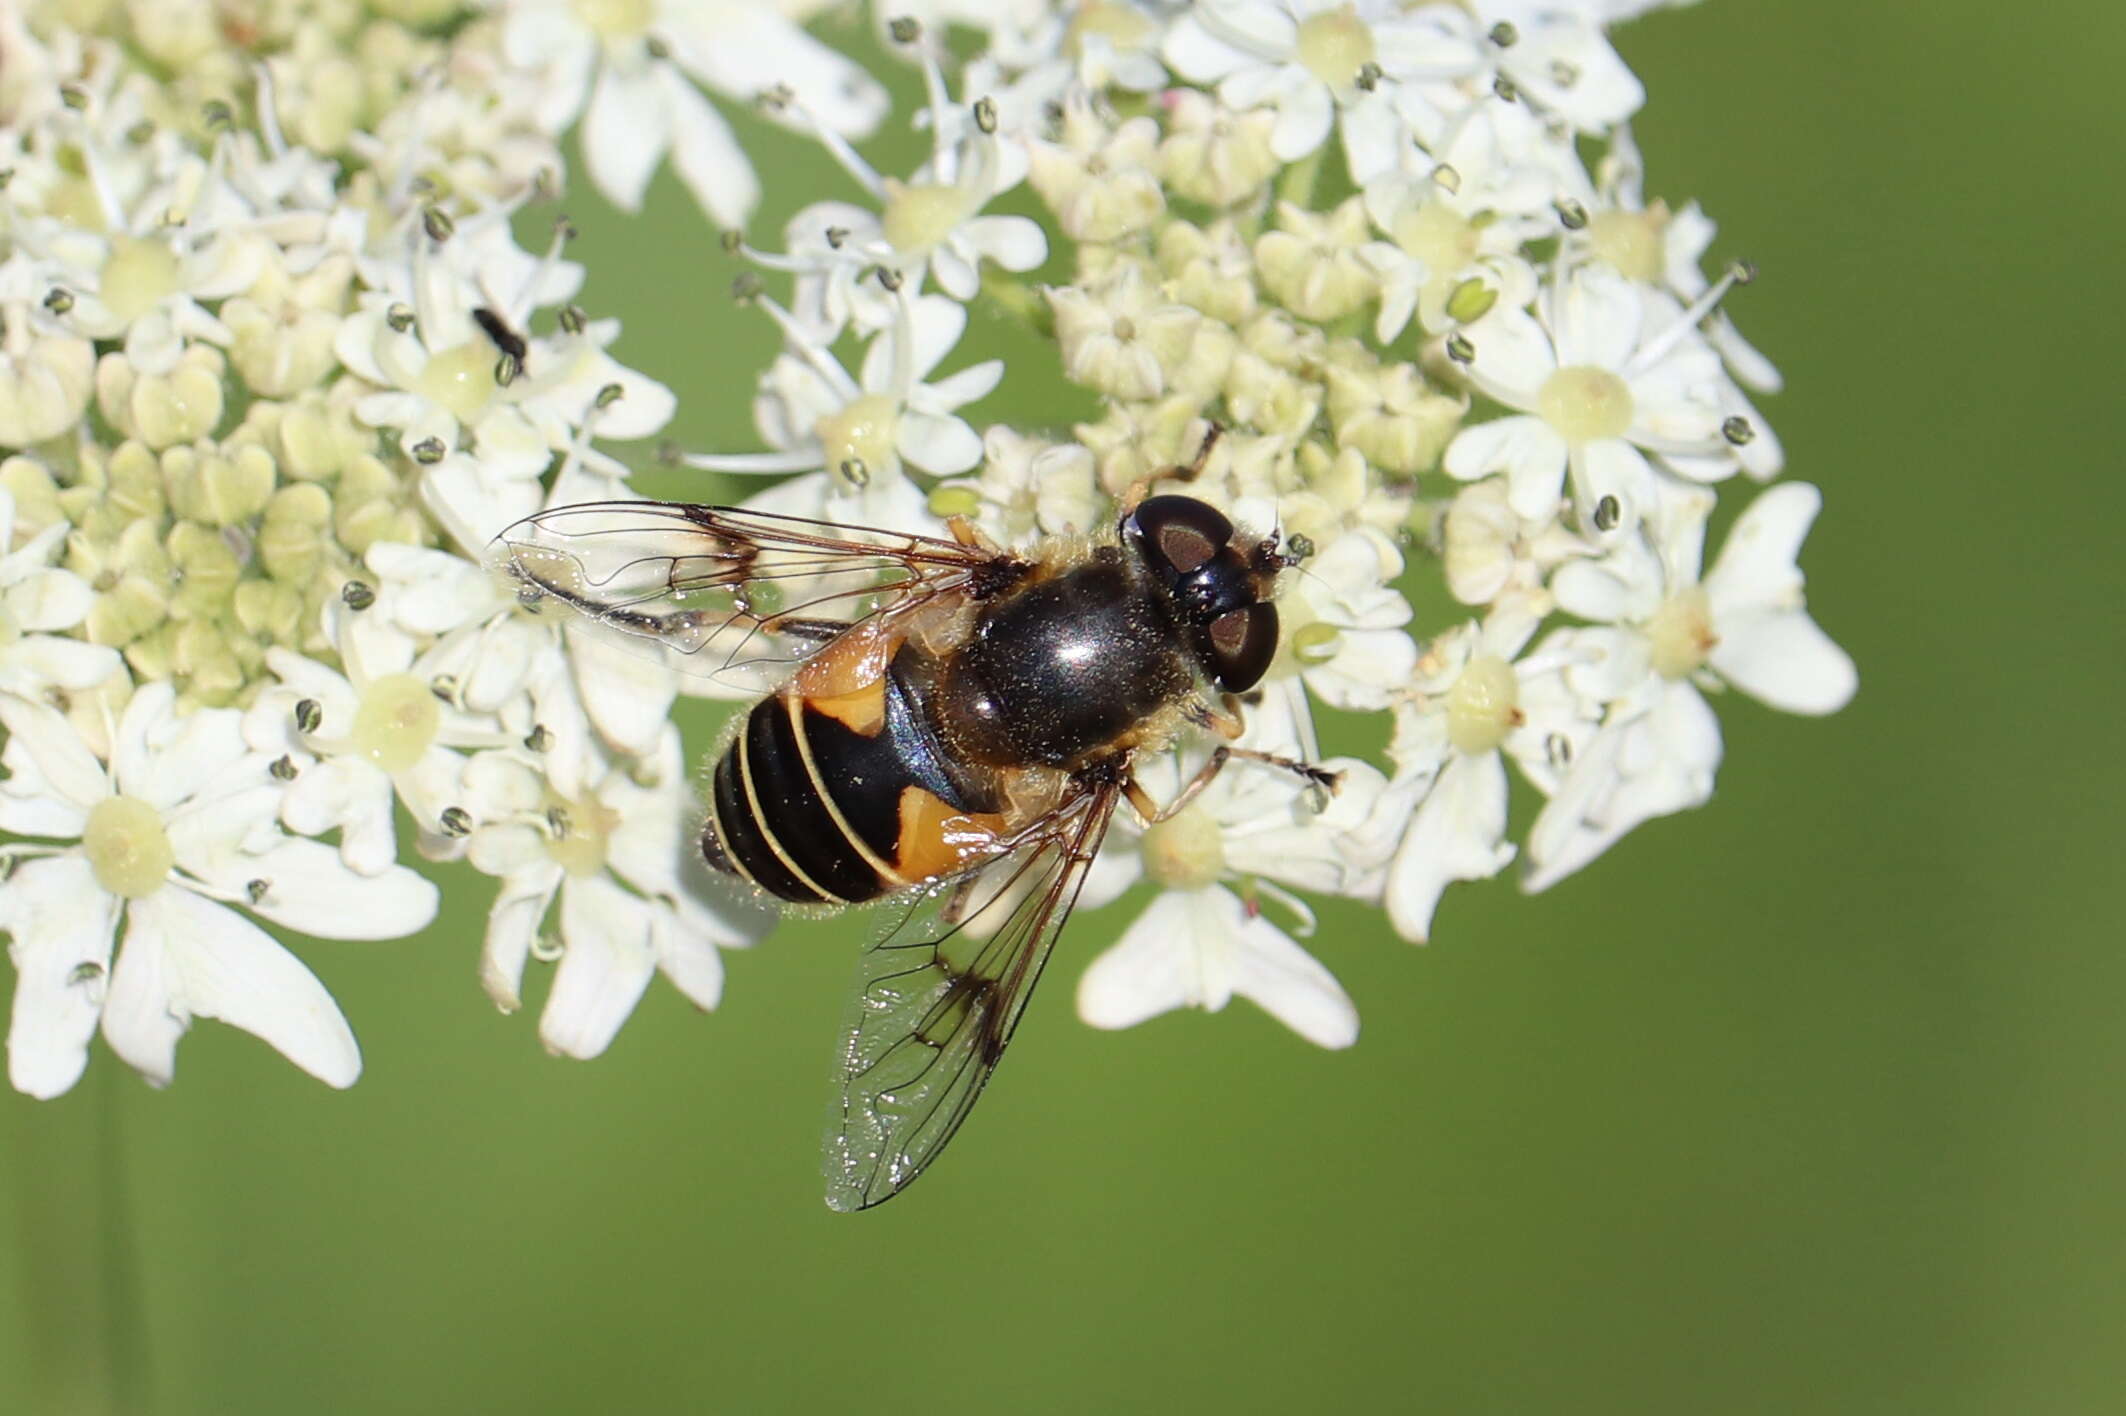
M 106 1052 L 0 1095 L 0 1410 L 2122 1410 L 2126 17 L 2028 15 L 1620 32 L 1650 191 L 1762 268 L 1731 308 L 1862 672 L 1830 721 L 1724 702 L 1711 808 L 1550 895 L 1458 887 L 1429 948 L 1327 910 L 1344 1055 L 1246 1004 L 1078 1025 L 1091 916 L 948 1163 L 855 1218 L 819 1129 L 867 925 L 568 1063 L 480 995 L 457 878 L 425 938 L 306 950 L 347 1095 L 215 1025 L 164 1095 Z M 755 151 L 763 236 L 844 191 Z M 685 196 L 572 213 L 674 436 L 750 446 L 765 321 Z

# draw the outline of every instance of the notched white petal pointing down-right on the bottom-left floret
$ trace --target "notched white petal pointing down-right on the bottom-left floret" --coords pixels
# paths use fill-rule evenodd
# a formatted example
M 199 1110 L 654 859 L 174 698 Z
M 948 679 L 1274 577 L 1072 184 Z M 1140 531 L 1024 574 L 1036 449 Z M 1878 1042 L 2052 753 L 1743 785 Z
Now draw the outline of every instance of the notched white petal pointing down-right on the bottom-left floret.
M 191 1018 L 240 1027 L 332 1086 L 361 1076 L 353 1029 L 296 955 L 234 910 L 166 887 L 125 910 L 104 1038 L 151 1082 L 168 1084 Z

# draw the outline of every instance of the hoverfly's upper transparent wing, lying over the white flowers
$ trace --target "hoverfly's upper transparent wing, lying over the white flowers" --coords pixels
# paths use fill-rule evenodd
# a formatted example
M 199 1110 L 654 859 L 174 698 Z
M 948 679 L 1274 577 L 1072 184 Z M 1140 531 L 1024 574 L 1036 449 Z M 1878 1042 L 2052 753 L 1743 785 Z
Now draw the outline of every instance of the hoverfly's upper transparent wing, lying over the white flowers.
M 1001 559 L 955 540 L 687 502 L 578 502 L 502 532 L 489 561 L 674 668 L 765 691 L 836 631 Z

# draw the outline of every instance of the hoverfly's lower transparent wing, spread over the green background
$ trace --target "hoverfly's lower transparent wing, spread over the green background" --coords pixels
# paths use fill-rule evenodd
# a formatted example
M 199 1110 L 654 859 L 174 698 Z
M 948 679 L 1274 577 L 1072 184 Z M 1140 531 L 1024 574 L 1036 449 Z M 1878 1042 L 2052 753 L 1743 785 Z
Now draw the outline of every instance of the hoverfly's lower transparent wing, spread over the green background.
M 938 1159 L 1012 1040 L 1099 855 L 1120 787 L 1063 806 L 1008 855 L 912 908 L 863 957 L 827 1123 L 827 1203 L 867 1210 Z

